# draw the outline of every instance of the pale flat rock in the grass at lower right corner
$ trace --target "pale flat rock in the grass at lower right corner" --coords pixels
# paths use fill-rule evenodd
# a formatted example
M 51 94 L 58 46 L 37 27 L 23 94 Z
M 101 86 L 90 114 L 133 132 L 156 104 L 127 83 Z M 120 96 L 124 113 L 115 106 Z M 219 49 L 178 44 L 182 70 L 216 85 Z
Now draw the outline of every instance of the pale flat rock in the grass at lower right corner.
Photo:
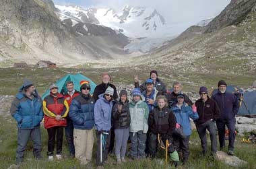
M 236 156 L 229 156 L 224 151 L 217 151 L 217 159 L 221 162 L 224 162 L 230 166 L 242 166 L 247 164 L 248 162 L 245 162 L 244 160 L 241 160 L 240 158 Z

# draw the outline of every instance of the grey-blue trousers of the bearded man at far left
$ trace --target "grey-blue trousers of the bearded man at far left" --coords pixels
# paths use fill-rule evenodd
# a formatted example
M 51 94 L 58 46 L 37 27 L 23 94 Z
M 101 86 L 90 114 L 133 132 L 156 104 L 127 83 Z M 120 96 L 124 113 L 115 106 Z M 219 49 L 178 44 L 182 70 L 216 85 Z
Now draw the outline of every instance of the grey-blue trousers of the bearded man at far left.
M 28 140 L 33 141 L 34 158 L 41 157 L 42 143 L 40 127 L 36 129 L 19 129 L 18 130 L 18 147 L 16 151 L 16 164 L 23 162 L 24 153 Z

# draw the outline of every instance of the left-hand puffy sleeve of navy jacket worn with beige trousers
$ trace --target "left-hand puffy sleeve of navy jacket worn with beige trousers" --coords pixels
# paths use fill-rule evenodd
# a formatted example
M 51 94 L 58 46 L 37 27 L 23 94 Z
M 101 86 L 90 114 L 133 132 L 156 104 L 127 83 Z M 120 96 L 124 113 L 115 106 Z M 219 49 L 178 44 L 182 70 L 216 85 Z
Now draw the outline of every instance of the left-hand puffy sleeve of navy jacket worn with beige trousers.
M 79 115 L 79 110 L 81 110 L 81 105 L 77 100 L 72 100 L 70 108 L 69 108 L 69 117 L 73 121 L 73 123 L 77 125 L 84 124 L 84 118 Z

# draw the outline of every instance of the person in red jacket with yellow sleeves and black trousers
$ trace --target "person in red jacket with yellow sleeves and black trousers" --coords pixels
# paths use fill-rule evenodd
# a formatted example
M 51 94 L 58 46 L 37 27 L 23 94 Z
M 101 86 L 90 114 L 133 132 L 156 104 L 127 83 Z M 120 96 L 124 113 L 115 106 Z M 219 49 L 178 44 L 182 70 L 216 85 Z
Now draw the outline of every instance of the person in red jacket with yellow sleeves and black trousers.
M 50 86 L 50 94 L 44 98 L 42 107 L 44 111 L 44 128 L 48 133 L 48 151 L 47 156 L 53 161 L 53 151 L 55 147 L 55 137 L 57 137 L 57 160 L 61 160 L 63 127 L 67 126 L 67 114 L 69 104 L 64 96 L 58 92 L 58 86 L 53 83 Z

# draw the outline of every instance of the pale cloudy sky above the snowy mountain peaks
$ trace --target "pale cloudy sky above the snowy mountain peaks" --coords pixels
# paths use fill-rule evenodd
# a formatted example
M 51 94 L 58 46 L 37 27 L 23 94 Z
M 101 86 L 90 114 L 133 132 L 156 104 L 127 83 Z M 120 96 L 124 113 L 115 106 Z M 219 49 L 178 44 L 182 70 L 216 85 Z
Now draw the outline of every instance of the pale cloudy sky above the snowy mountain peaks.
M 55 4 L 75 4 L 87 7 L 112 7 L 120 10 L 125 5 L 154 7 L 166 22 L 199 22 L 216 17 L 230 0 L 53 0 Z

